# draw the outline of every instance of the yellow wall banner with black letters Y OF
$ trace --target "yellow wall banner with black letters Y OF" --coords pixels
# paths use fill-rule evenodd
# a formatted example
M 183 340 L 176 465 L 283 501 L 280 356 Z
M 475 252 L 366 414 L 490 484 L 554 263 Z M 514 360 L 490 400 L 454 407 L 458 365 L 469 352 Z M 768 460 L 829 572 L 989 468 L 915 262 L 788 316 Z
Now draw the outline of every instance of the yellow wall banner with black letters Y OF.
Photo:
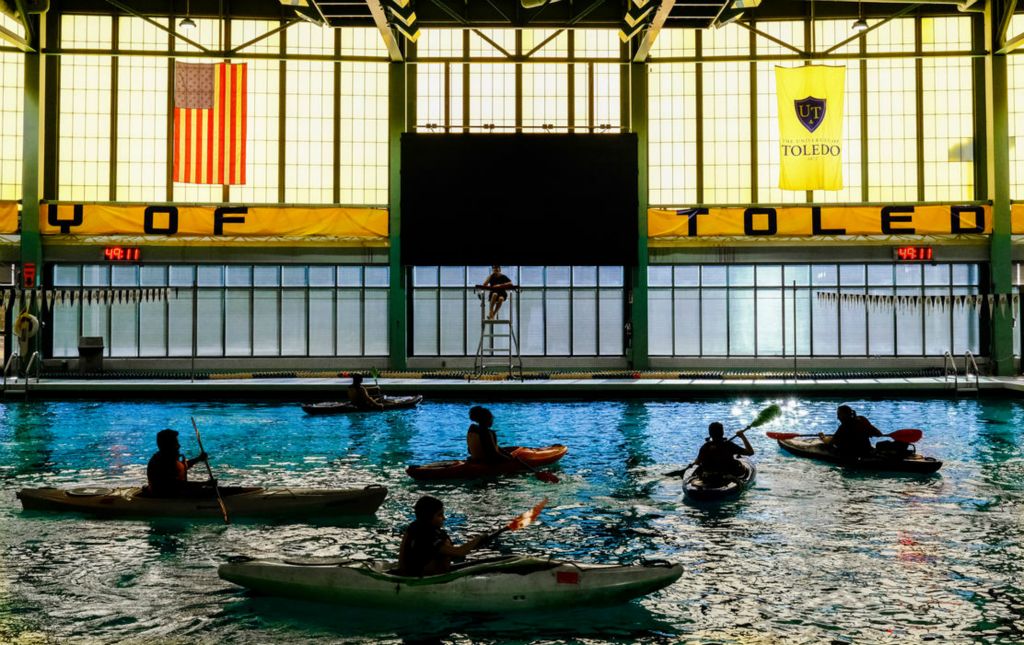
M 165 235 L 168 238 L 334 238 L 385 241 L 386 209 L 44 204 L 44 235 Z

